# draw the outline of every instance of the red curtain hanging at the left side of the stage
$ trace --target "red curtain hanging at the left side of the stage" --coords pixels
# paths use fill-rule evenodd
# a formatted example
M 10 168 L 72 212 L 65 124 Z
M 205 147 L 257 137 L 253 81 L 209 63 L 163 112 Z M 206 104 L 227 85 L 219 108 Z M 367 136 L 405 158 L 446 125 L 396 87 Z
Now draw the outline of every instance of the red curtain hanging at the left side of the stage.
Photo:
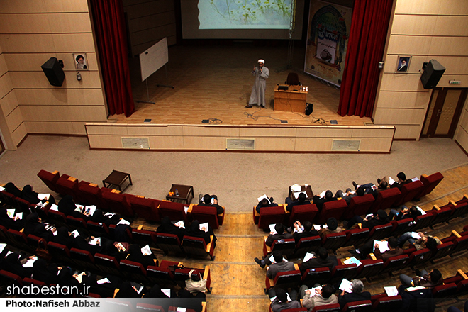
M 94 28 L 101 72 L 111 115 L 135 111 L 128 67 L 127 38 L 122 1 L 92 0 Z

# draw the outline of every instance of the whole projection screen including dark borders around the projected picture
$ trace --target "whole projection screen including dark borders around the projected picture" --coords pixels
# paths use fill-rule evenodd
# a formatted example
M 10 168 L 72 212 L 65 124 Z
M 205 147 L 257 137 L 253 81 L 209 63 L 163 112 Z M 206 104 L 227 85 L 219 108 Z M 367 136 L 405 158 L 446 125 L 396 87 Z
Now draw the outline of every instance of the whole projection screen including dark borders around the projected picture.
M 182 0 L 184 39 L 301 39 L 304 0 Z

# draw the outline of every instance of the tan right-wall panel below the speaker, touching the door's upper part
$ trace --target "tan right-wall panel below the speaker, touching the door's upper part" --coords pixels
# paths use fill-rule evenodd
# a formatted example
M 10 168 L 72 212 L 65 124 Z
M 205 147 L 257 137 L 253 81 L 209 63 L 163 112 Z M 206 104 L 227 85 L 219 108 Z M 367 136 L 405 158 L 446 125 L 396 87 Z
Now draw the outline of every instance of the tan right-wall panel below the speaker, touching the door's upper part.
M 426 108 L 431 92 L 381 91 L 379 108 Z

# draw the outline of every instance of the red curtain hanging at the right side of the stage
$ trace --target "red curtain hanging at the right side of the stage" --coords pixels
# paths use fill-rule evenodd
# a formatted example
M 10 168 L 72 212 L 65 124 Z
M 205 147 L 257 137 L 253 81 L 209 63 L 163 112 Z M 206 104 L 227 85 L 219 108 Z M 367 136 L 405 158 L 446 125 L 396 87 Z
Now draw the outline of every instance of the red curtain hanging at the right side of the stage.
M 371 117 L 393 0 L 355 0 L 340 89 L 341 116 Z

